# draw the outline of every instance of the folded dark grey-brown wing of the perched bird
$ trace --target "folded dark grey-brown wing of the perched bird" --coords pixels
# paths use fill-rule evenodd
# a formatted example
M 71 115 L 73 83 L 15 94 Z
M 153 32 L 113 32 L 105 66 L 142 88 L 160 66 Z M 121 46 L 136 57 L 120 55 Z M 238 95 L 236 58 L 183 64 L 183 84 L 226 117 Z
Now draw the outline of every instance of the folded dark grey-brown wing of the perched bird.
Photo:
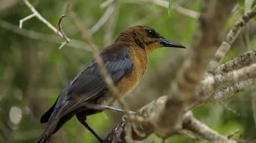
M 129 57 L 129 49 L 130 45 L 128 44 L 112 44 L 100 52 L 104 67 L 114 84 L 133 69 L 133 62 Z M 48 122 L 55 108 L 59 109 L 66 106 L 64 108 L 67 111 L 63 111 L 66 109 L 62 108 L 61 112 L 72 111 L 76 108 L 76 101 L 95 99 L 106 90 L 108 90 L 108 85 L 106 85 L 99 67 L 93 59 L 68 82 L 55 104 L 41 117 L 41 123 Z M 61 115 L 63 114 L 61 113 Z

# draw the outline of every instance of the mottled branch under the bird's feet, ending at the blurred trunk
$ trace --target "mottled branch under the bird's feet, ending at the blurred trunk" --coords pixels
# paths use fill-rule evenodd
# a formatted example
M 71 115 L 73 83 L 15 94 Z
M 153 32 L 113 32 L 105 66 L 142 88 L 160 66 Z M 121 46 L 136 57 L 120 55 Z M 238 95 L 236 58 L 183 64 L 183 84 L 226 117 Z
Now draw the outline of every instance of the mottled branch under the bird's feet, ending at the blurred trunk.
M 137 113 L 136 117 L 152 120 L 150 117 L 157 115 L 158 111 L 163 110 L 167 96 L 162 96 L 157 100 L 143 106 Z M 115 142 L 136 142 L 142 141 L 148 135 L 153 133 L 153 127 L 151 124 L 136 124 L 126 120 L 119 123 L 114 130 L 106 137 L 104 143 Z

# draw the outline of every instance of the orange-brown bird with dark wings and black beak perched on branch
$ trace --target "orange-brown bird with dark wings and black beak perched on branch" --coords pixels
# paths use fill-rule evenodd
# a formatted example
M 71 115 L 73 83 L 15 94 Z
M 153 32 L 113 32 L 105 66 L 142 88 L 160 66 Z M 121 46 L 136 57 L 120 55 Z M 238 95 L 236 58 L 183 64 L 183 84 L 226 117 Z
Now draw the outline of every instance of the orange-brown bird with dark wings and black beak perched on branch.
M 147 54 L 159 47 L 186 48 L 163 38 L 150 26 L 136 25 L 121 32 L 113 44 L 98 53 L 121 98 L 142 79 L 148 67 Z M 47 125 L 35 143 L 48 142 L 73 116 L 102 143 L 104 140 L 86 119 L 108 107 L 112 108 L 115 102 L 95 58 L 92 59 L 67 83 L 54 105 L 41 117 L 40 122 Z

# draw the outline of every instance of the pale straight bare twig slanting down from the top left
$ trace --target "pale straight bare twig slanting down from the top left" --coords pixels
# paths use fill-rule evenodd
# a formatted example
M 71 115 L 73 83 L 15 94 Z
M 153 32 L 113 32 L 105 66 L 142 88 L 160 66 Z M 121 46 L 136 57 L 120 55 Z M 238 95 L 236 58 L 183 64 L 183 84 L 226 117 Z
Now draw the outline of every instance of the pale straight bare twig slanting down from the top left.
M 29 3 L 29 1 L 28 0 L 23 0 L 24 2 L 25 2 L 25 4 L 29 7 L 29 9 L 34 13 L 34 15 L 40 20 L 40 21 L 42 21 L 43 23 L 45 23 L 49 28 L 51 28 L 51 30 L 52 31 L 54 31 L 57 35 L 59 35 L 60 37 L 62 37 L 62 38 L 64 38 L 64 36 L 61 34 L 61 32 L 59 32 L 58 30 L 57 30 L 57 28 L 55 28 L 50 22 L 48 22 L 44 17 L 42 17 L 41 15 L 40 15 L 40 13 L 38 13 L 36 10 L 35 10 L 35 8 L 33 7 L 33 5 L 31 4 L 31 3 Z M 28 20 L 28 19 L 26 19 L 26 20 Z M 25 20 L 23 20 L 23 22 L 24 22 Z M 65 38 L 64 38 L 65 39 Z M 67 38 L 67 40 L 68 41 L 70 41 L 69 40 L 69 38 Z

